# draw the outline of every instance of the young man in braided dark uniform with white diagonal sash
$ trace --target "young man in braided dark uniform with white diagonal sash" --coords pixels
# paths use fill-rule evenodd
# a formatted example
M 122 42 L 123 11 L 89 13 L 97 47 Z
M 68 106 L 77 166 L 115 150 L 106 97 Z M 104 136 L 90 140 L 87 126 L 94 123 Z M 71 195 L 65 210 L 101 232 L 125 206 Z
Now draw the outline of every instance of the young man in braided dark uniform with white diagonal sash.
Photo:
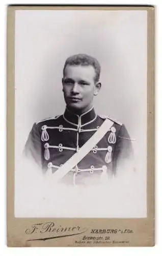
M 101 89 L 99 76 L 100 64 L 95 58 L 86 54 L 67 58 L 62 78 L 66 110 L 35 123 L 25 145 L 26 156 L 67 184 L 100 183 L 132 159 L 125 126 L 96 115 L 93 108 L 93 98 Z M 97 132 L 100 139 L 94 139 Z M 85 143 L 87 152 L 82 148 Z

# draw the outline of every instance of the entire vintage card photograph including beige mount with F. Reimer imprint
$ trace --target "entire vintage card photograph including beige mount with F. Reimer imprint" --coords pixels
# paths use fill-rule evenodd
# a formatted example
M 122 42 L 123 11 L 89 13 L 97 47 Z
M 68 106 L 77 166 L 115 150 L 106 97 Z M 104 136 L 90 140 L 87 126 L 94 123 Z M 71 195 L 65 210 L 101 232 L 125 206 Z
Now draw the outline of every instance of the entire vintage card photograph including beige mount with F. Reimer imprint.
M 154 245 L 154 7 L 8 6 L 8 246 Z

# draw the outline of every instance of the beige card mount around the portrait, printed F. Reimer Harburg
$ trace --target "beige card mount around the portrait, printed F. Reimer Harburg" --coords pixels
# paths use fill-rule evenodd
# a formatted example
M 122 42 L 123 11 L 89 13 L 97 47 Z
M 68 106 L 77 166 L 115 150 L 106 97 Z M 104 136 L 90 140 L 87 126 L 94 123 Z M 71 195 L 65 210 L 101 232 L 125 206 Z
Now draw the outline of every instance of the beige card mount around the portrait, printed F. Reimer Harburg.
M 148 13 L 147 71 L 147 218 L 15 218 L 14 217 L 14 22 L 15 10 L 146 10 Z M 8 6 L 7 8 L 7 245 L 10 247 L 52 246 L 153 246 L 154 245 L 154 7 L 153 6 Z M 55 226 L 71 227 L 75 236 L 46 241 L 32 239 L 25 230 L 32 224 L 53 221 Z M 80 228 L 79 228 L 80 227 Z M 87 231 L 85 231 L 87 229 Z M 91 229 L 114 229 L 110 234 L 94 234 Z M 121 230 L 129 230 L 121 233 Z M 120 231 L 119 231 L 120 230 Z M 131 232 L 132 230 L 133 232 Z M 116 233 L 115 233 L 116 232 Z M 59 232 L 57 236 L 59 236 Z M 63 234 L 63 233 L 62 233 Z M 64 234 L 67 234 L 65 230 Z M 68 233 L 69 234 L 69 233 Z M 88 244 L 84 236 L 110 236 L 119 243 Z M 42 234 L 39 234 L 42 238 Z M 39 237 L 37 235 L 37 237 Z M 46 237 L 51 237 L 47 233 Z M 87 241 L 86 241 L 87 242 Z M 108 240 L 109 242 L 109 240 Z

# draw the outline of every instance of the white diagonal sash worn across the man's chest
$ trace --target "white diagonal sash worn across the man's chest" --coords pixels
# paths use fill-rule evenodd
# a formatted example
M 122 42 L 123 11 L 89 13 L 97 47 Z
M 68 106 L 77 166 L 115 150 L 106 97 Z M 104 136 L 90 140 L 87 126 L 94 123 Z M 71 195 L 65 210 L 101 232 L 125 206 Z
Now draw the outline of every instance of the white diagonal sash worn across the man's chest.
M 53 181 L 57 182 L 63 178 L 75 165 L 77 165 L 91 150 L 92 148 L 103 138 L 107 131 L 114 124 L 110 119 L 105 119 L 99 129 L 92 135 L 92 137 L 79 148 L 70 159 L 68 159 L 54 174 L 52 174 Z

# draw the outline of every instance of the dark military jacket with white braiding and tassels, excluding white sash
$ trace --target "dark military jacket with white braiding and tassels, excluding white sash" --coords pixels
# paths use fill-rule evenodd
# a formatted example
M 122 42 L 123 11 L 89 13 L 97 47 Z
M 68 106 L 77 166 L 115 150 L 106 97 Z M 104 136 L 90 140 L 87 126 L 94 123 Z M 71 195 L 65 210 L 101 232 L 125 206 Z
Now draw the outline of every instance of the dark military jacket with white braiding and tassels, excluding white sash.
M 37 122 L 26 142 L 25 155 L 32 157 L 45 173 L 49 170 L 54 173 L 78 152 L 105 118 L 111 119 L 96 115 L 93 108 L 81 116 L 66 109 L 61 116 Z M 131 141 L 125 126 L 112 121 L 113 125 L 103 138 L 63 177 L 63 182 L 98 183 L 103 173 L 116 173 L 119 160 L 127 161 L 132 157 Z

